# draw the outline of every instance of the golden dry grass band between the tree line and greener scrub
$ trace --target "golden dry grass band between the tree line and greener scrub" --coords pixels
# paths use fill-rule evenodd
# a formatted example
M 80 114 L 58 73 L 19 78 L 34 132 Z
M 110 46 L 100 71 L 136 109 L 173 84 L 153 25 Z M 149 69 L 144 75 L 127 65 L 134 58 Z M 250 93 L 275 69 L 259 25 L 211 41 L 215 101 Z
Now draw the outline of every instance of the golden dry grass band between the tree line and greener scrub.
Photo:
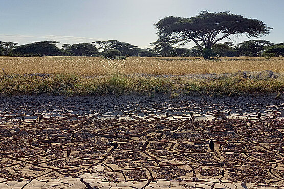
M 108 75 L 133 74 L 205 74 L 236 73 L 238 71 L 262 71 L 284 73 L 284 58 L 162 58 L 127 57 L 126 60 L 109 60 L 100 57 L 0 57 L 0 68 L 7 74 L 75 74 Z M 3 73 L 1 73 L 3 74 Z

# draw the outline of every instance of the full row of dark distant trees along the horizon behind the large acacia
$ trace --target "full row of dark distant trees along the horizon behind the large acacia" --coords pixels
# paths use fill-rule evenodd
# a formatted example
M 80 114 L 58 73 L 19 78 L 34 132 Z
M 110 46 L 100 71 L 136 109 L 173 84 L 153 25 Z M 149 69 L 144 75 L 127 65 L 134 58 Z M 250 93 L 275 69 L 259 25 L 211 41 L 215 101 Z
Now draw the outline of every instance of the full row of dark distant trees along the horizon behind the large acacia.
M 151 45 L 153 48 L 141 49 L 138 46 L 117 40 L 95 41 L 92 43 L 63 44 L 58 48 L 57 41 L 40 41 L 30 44 L 17 45 L 14 42 L 0 41 L 0 55 L 2 56 L 103 56 L 109 58 L 123 58 L 127 56 L 139 57 L 200 57 L 202 51 L 198 46 L 190 49 L 173 47 L 167 41 L 157 40 Z M 201 46 L 204 51 L 206 48 Z M 273 44 L 266 40 L 248 40 L 237 45 L 232 42 L 216 43 L 212 46 L 212 57 L 284 57 L 284 43 Z

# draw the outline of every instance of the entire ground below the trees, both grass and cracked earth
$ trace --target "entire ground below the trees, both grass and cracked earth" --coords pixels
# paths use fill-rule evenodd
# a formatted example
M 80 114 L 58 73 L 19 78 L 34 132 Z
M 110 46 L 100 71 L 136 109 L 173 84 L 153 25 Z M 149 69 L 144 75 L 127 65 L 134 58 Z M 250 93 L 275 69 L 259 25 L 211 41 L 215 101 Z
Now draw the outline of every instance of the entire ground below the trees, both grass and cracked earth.
M 0 68 L 0 188 L 284 187 L 283 57 Z

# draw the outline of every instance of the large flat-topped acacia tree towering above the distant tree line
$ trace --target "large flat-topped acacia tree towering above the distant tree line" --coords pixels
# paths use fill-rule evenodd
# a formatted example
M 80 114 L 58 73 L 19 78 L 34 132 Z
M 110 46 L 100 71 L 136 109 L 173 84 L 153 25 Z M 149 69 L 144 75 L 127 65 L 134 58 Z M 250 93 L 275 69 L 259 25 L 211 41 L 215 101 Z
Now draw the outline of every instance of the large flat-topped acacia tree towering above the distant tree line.
M 230 12 L 211 13 L 202 11 L 191 18 L 168 16 L 162 18 L 155 26 L 160 39 L 170 39 L 173 44 L 186 44 L 193 41 L 205 59 L 210 58 L 212 46 L 231 35 L 246 34 L 259 37 L 269 33 L 270 27 L 262 21 L 245 18 Z M 203 43 L 203 46 L 201 45 Z

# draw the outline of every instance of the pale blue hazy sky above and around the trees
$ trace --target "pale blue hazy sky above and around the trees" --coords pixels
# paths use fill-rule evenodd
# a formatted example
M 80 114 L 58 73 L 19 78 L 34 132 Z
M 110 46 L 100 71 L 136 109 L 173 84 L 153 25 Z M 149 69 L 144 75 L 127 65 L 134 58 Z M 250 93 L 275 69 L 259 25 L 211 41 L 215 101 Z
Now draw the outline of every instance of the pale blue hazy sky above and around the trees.
M 283 0 L 0 0 L 0 41 L 119 40 L 147 48 L 157 39 L 153 24 L 159 19 L 209 10 L 261 20 L 273 28 L 261 39 L 280 43 L 284 42 L 283 8 Z M 233 39 L 234 43 L 248 40 Z

